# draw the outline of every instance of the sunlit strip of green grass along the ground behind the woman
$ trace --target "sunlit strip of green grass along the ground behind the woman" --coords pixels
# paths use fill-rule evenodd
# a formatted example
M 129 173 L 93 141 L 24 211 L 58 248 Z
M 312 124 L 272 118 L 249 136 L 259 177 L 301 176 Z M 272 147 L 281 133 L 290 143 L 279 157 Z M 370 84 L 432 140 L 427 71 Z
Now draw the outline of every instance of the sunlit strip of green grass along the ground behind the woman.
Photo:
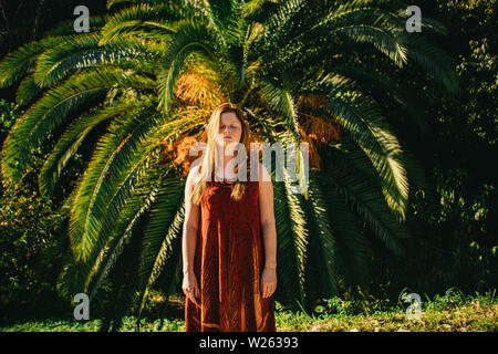
M 495 293 L 465 296 L 450 289 L 445 295 L 421 299 L 421 315 L 408 319 L 404 303 L 406 293 L 396 304 L 382 301 L 355 302 L 339 298 L 324 300 L 313 314 L 291 312 L 277 303 L 278 332 L 496 332 L 498 300 Z M 142 332 L 184 332 L 183 298 L 173 298 L 167 319 L 142 319 Z M 136 319 L 126 316 L 120 331 L 135 331 Z M 49 319 L 1 327 L 15 332 L 96 332 L 101 320 L 75 321 Z

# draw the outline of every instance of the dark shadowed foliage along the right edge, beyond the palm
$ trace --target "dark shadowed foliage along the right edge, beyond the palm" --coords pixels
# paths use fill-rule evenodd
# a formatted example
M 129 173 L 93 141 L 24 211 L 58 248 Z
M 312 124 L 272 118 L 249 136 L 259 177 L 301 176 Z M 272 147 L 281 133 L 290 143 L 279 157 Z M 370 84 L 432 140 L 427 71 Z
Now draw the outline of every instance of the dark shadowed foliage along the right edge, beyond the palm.
M 434 188 L 411 192 L 407 227 L 415 237 L 405 243 L 411 257 L 397 262 L 376 251 L 371 264 L 377 296 L 394 298 L 404 287 L 436 295 L 450 287 L 484 293 L 498 285 L 498 199 L 490 169 L 498 127 L 496 1 L 426 1 L 422 7 L 448 24 L 446 48 L 457 59 L 464 92 L 455 100 L 418 77 L 422 96 L 438 102 L 423 110 L 434 117 L 432 129 L 412 134 L 416 131 L 405 121 L 396 128 L 407 145 L 417 146 L 414 152 L 432 171 Z

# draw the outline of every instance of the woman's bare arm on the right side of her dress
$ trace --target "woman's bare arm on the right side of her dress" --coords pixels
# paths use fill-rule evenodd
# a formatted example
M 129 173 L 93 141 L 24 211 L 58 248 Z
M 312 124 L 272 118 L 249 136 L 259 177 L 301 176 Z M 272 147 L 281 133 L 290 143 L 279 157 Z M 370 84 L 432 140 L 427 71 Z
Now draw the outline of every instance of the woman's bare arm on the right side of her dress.
M 264 240 L 263 298 L 277 289 L 277 228 L 273 211 L 273 185 L 263 165 L 259 165 L 259 212 Z

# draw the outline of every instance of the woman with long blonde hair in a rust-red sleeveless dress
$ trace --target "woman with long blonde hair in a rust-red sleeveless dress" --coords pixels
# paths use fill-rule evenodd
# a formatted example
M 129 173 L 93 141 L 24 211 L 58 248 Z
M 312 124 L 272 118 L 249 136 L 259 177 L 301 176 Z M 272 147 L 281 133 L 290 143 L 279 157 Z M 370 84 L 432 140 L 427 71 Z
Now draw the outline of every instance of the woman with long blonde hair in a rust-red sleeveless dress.
M 191 168 L 185 188 L 186 331 L 274 332 L 277 230 L 270 176 L 255 162 L 258 178 L 251 180 L 250 132 L 237 105 L 216 107 L 206 132 L 203 160 Z M 236 157 L 235 147 L 242 147 Z

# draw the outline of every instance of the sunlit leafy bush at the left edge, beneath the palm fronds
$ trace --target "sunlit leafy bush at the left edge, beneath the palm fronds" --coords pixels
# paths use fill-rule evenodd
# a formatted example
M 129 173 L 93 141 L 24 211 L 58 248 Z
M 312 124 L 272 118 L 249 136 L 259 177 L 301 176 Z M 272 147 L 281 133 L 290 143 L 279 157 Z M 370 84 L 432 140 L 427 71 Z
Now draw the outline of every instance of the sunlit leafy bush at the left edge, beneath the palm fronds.
M 9 132 L 22 112 L 4 100 L 0 110 L 0 132 Z M 52 312 L 64 309 L 54 283 L 68 248 L 68 225 L 53 199 L 40 195 L 35 177 L 33 169 L 21 184 L 0 184 L 0 321 L 44 315 L 48 308 L 41 304 L 48 302 L 55 304 Z

